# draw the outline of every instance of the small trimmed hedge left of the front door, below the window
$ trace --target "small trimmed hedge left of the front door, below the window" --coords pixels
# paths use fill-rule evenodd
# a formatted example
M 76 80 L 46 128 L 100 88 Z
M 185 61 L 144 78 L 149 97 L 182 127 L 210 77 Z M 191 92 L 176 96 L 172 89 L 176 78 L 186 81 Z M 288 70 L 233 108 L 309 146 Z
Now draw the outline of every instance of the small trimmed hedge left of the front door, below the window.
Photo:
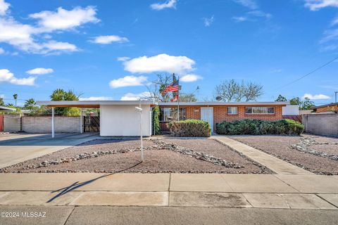
M 170 122 L 168 127 L 173 136 L 211 136 L 211 127 L 203 120 L 182 120 Z

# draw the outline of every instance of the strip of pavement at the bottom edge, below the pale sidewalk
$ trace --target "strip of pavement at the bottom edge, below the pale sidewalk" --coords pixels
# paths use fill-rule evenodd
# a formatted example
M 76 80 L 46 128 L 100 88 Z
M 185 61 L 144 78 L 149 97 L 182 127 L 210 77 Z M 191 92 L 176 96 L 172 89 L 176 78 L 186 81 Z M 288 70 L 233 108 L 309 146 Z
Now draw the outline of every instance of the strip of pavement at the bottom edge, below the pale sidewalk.
M 44 217 L 0 217 L 6 225 L 182 225 L 327 224 L 338 221 L 337 210 L 281 210 L 226 207 L 109 207 L 109 206 L 1 206 L 1 212 L 42 212 Z

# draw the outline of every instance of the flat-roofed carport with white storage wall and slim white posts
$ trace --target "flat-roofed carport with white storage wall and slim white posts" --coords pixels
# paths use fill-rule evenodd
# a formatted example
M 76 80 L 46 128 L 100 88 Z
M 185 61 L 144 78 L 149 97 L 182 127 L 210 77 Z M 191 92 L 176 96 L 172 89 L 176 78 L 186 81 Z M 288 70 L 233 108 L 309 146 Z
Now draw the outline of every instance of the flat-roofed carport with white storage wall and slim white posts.
M 56 107 L 100 108 L 100 136 L 139 136 L 139 117 L 135 107 L 142 108 L 142 135 L 151 136 L 151 107 L 154 101 L 38 101 L 51 107 L 51 136 L 54 138 Z M 81 110 L 82 112 L 82 110 Z M 82 133 L 82 115 L 80 133 Z

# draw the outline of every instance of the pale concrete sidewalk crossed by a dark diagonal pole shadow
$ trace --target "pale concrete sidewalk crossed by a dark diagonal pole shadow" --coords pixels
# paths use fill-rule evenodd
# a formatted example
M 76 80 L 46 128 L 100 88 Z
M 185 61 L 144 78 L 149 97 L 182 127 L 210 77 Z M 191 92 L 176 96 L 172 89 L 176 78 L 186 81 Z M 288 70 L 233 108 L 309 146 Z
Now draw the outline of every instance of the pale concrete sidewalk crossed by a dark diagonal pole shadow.
M 0 180 L 0 205 L 338 209 L 338 176 L 82 173 Z

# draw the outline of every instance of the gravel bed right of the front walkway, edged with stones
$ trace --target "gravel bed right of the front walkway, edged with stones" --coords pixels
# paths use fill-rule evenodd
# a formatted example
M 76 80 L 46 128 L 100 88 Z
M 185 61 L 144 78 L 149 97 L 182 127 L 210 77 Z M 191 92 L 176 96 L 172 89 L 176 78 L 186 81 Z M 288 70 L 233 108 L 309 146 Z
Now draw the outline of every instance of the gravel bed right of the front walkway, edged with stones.
M 338 138 L 301 136 L 230 136 L 315 174 L 338 174 Z

